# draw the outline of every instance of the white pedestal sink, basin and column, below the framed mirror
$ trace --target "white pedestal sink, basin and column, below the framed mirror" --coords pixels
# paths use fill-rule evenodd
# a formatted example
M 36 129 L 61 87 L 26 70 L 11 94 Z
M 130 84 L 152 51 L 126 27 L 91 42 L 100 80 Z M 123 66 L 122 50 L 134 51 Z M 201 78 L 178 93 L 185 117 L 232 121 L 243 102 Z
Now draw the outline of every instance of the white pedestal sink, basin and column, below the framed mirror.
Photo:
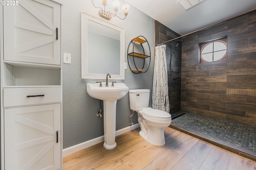
M 104 105 L 104 144 L 103 146 L 110 150 L 116 147 L 116 101 L 126 95 L 129 88 L 124 83 L 115 83 L 114 87 L 105 87 L 106 82 L 87 83 L 87 93 L 95 98 L 103 100 Z

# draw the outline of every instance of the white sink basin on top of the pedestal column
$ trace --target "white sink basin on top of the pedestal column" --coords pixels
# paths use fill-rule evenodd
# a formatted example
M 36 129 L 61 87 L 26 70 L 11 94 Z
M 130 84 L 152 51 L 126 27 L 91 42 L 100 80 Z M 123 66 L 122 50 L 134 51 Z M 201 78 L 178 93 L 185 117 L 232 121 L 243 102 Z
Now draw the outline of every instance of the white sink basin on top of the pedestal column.
M 115 101 L 124 97 L 129 90 L 124 83 L 114 83 L 114 87 L 111 85 L 112 83 L 108 83 L 109 87 L 105 87 L 106 82 L 102 82 L 102 87 L 99 87 L 100 83 L 87 83 L 87 93 L 95 99 Z

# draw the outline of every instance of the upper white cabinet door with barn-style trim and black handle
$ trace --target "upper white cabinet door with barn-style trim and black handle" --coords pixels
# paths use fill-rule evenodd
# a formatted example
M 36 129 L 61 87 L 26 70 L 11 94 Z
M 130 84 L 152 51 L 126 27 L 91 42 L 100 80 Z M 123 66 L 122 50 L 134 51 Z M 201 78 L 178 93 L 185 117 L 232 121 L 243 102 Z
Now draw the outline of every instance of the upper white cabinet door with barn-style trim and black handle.
M 3 6 L 4 60 L 60 65 L 60 4 L 18 3 Z

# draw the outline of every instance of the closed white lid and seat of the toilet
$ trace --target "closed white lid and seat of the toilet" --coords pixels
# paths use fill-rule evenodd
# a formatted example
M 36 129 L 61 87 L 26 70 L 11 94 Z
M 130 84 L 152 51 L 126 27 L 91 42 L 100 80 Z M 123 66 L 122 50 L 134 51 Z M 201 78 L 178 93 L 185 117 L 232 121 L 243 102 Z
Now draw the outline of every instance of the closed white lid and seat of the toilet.
M 155 123 L 171 123 L 171 115 L 165 111 L 152 109 L 150 107 L 138 111 L 142 117 Z

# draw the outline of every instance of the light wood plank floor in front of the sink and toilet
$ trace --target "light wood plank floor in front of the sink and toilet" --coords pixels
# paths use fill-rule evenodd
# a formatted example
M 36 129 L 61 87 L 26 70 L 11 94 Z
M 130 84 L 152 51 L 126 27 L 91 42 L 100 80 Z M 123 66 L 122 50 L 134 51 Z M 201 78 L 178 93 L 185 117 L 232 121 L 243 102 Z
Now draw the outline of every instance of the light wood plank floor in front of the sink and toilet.
M 170 127 L 164 146 L 139 135 L 140 128 L 116 136 L 117 147 L 103 142 L 63 158 L 64 170 L 256 170 L 256 162 L 228 152 Z

